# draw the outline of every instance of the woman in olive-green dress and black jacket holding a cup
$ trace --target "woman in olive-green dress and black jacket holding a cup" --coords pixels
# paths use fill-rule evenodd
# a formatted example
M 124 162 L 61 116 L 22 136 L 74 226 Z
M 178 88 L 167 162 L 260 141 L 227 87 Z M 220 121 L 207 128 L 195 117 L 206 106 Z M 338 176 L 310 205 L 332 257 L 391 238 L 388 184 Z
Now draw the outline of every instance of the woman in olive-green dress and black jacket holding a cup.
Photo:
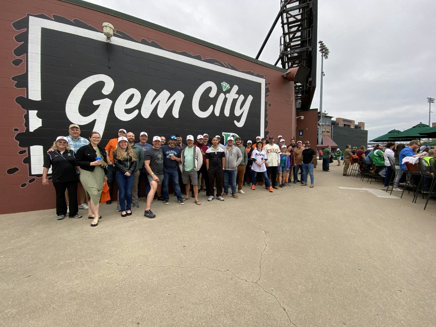
M 88 199 L 88 218 L 93 219 L 91 226 L 97 226 L 99 219 L 100 197 L 103 190 L 103 182 L 106 177 L 106 151 L 100 146 L 101 137 L 98 132 L 91 132 L 90 143 L 77 150 L 76 166 L 80 170 L 80 182 Z

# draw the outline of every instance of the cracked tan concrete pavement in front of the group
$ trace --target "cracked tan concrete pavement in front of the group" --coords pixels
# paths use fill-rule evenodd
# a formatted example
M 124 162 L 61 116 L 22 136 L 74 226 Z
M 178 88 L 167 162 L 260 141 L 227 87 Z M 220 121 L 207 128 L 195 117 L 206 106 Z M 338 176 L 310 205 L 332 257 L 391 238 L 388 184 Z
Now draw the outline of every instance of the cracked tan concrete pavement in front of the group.
M 95 228 L 85 210 L 2 215 L 0 324 L 434 326 L 436 201 L 382 198 L 342 168 L 315 169 L 313 189 L 170 196 L 154 219 L 102 204 Z

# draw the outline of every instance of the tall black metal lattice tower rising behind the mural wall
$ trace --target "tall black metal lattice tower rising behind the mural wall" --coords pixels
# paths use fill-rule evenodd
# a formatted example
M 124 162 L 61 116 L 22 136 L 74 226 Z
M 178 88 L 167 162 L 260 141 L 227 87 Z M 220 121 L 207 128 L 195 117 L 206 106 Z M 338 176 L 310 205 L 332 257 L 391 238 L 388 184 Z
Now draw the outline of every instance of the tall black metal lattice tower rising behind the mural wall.
M 285 69 L 304 65 L 310 70 L 304 82 L 295 82 L 297 110 L 308 110 L 312 103 L 317 75 L 317 0 L 281 0 L 283 35 L 280 57 Z

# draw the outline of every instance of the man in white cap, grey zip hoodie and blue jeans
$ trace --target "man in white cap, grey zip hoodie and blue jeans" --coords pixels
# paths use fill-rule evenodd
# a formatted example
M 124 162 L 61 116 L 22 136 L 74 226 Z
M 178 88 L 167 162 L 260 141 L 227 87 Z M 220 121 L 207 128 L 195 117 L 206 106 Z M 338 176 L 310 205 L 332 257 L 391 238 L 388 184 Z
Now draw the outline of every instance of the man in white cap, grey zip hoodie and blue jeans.
M 224 147 L 225 153 L 225 165 L 224 165 L 224 193 L 222 197 L 228 195 L 228 187 L 232 187 L 232 197 L 237 199 L 236 195 L 236 175 L 238 171 L 238 165 L 242 161 L 241 150 L 237 146 L 233 145 L 233 137 L 230 136 L 227 139 L 227 145 Z

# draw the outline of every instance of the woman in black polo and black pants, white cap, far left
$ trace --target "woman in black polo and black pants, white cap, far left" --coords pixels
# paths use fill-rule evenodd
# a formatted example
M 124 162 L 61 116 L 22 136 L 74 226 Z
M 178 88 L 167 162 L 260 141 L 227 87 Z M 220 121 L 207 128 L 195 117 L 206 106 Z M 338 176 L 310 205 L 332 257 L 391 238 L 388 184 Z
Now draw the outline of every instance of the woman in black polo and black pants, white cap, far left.
M 51 167 L 51 179 L 56 190 L 56 215 L 58 220 L 64 219 L 67 214 L 65 190 L 68 189 L 71 218 L 82 218 L 78 215 L 77 204 L 77 174 L 75 169 L 75 153 L 70 149 L 68 140 L 59 136 L 53 143 L 54 151 L 46 153 L 44 170 L 42 171 L 42 184 L 48 185 L 48 169 Z

